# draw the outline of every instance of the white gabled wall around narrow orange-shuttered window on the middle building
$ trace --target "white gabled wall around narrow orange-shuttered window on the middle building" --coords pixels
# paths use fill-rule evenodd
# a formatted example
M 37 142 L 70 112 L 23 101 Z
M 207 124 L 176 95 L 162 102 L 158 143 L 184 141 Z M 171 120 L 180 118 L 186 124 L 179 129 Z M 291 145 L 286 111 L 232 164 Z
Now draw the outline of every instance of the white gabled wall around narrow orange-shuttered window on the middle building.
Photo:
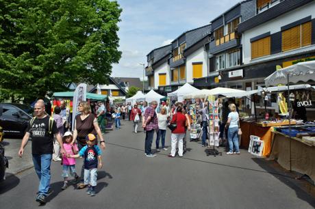
M 186 82 L 193 83 L 192 80 L 192 63 L 201 62 L 203 63 L 202 76 L 207 76 L 208 62 L 207 62 L 207 52 L 203 50 L 203 46 L 198 48 L 197 51 L 188 55 L 186 57 Z

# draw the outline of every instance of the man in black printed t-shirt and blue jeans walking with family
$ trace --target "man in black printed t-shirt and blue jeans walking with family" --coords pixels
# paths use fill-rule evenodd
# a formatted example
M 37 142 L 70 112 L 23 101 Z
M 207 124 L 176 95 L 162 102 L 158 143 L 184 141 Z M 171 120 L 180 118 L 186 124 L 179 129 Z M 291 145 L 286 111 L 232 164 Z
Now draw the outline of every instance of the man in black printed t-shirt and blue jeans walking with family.
M 31 136 L 31 154 L 33 156 L 35 171 L 40 179 L 36 201 L 40 204 L 45 204 L 51 179 L 50 165 L 53 154 L 53 135 L 55 135 L 55 138 L 60 144 L 60 153 L 65 154 L 65 152 L 64 146 L 62 145 L 62 137 L 60 136 L 55 121 L 51 120 L 45 113 L 45 104 L 36 102 L 34 113 L 36 118 L 31 120 L 28 124 L 27 132 L 23 137 L 21 148 L 18 151 L 18 156 L 23 156 L 25 145 Z M 49 120 L 51 120 L 50 123 Z M 49 128 L 50 124 L 51 128 Z

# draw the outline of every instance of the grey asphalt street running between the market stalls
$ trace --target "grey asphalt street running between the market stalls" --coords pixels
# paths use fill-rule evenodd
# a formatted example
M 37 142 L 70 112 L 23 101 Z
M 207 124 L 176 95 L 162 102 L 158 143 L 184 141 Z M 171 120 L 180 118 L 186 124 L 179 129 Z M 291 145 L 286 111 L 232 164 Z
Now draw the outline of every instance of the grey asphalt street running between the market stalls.
M 168 151 L 144 156 L 144 133 L 132 133 L 131 122 L 106 133 L 107 148 L 99 170 L 97 195 L 69 186 L 62 191 L 60 163 L 52 163 L 53 193 L 42 208 L 314 208 L 315 199 L 273 163 L 251 156 L 206 156 L 188 142 L 184 158 Z M 170 145 L 167 130 L 166 145 Z M 30 145 L 30 144 L 29 144 Z M 155 143 L 153 142 L 153 148 Z M 221 152 L 222 148 L 219 149 Z M 77 161 L 77 168 L 82 160 Z M 34 169 L 0 184 L 1 208 L 36 208 L 38 178 Z

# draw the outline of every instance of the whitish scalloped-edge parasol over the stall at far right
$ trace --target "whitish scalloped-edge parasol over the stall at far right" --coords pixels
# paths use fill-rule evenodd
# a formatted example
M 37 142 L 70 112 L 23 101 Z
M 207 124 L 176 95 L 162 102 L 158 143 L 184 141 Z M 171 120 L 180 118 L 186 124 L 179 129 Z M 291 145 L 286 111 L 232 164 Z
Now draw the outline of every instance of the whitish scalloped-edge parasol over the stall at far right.
M 297 83 L 299 81 L 315 81 L 315 61 L 304 61 L 294 64 L 293 66 L 288 66 L 281 70 L 275 71 L 270 76 L 266 77 L 266 86 L 278 85 L 278 84 L 288 84 L 288 79 L 290 83 Z

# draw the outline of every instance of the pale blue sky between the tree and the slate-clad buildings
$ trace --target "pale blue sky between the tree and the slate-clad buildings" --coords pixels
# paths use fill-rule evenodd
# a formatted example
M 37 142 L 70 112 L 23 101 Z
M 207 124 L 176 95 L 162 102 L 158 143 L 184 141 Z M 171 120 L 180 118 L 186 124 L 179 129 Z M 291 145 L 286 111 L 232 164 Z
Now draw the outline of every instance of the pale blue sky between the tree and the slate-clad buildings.
M 118 36 L 123 52 L 112 76 L 140 77 L 146 55 L 185 31 L 207 25 L 240 0 L 118 0 L 123 8 Z

